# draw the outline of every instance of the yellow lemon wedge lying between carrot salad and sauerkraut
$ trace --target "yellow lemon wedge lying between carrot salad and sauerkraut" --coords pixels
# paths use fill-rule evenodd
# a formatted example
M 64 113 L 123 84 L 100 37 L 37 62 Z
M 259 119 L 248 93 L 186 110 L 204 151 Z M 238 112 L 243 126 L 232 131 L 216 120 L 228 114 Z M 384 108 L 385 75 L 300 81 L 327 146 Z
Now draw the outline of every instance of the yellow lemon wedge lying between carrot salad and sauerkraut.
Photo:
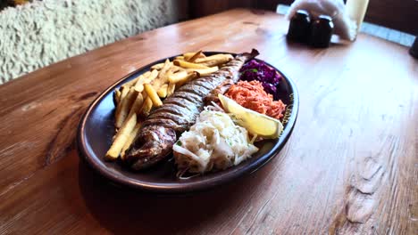
M 218 94 L 218 98 L 225 111 L 235 115 L 239 125 L 246 128 L 250 134 L 257 134 L 265 139 L 276 139 L 283 130 L 283 125 L 278 119 L 244 108 L 221 93 Z

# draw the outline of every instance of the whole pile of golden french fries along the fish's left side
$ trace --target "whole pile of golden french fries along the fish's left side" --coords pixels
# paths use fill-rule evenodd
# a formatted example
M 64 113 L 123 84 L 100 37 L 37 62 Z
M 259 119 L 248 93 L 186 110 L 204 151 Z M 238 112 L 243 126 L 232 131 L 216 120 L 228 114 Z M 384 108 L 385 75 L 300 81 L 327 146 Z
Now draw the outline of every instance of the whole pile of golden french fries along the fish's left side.
M 121 156 L 124 160 L 125 151 L 135 141 L 141 127 L 141 120 L 153 108 L 162 106 L 162 99 L 188 81 L 210 75 L 232 59 L 230 54 L 184 53 L 173 61 L 153 65 L 150 71 L 121 85 L 114 92 L 116 134 L 105 159 L 115 160 Z

